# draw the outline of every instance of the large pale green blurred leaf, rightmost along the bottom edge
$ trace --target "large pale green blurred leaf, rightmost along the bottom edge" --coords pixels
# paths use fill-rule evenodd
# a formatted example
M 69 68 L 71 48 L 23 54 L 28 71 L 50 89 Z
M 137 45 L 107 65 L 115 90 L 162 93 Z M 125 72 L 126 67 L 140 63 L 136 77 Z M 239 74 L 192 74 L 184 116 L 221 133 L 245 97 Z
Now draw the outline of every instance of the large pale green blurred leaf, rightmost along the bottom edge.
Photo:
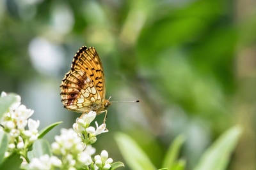
M 226 169 L 241 132 L 242 129 L 238 125 L 228 129 L 207 149 L 195 170 Z

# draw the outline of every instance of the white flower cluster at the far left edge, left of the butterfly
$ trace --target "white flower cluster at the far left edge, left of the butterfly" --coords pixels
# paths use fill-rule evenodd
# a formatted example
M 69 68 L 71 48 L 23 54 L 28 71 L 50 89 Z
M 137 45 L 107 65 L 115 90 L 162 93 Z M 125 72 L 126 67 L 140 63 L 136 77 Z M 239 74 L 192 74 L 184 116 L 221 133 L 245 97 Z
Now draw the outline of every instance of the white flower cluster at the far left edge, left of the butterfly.
M 7 96 L 5 92 L 1 93 L 1 97 Z M 26 157 L 29 146 L 38 138 L 38 127 L 40 122 L 32 120 L 31 115 L 34 111 L 27 109 L 26 106 L 20 104 L 20 96 L 16 96 L 15 103 L 10 106 L 8 111 L 4 113 L 0 120 L 0 131 L 7 132 L 9 136 L 8 151 L 4 157 L 10 156 L 12 153 Z M 28 129 L 25 127 L 28 125 Z

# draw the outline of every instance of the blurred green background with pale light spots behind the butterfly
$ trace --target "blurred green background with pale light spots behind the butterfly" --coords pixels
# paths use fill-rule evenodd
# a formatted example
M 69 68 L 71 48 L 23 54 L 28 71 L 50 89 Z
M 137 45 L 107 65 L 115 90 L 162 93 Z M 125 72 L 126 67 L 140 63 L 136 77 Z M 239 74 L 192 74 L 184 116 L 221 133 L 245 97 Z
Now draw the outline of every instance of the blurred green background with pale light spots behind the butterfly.
M 40 129 L 63 121 L 46 136 L 52 143 L 80 116 L 63 108 L 61 80 L 77 50 L 94 46 L 106 98 L 141 101 L 109 108 L 97 154 L 105 149 L 125 164 L 113 139 L 121 131 L 161 168 L 166 148 L 184 134 L 180 157 L 193 169 L 239 124 L 244 132 L 228 169 L 256 169 L 255 9 L 252 0 L 0 0 L 0 90 L 19 94 Z M 17 169 L 16 159 L 5 166 Z

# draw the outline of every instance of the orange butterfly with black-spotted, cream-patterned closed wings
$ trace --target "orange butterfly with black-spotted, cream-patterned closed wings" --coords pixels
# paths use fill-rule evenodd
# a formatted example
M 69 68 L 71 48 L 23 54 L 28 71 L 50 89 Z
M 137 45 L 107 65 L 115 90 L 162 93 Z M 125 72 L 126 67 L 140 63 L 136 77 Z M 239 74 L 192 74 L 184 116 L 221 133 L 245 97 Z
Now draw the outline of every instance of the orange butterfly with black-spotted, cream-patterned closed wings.
M 106 112 L 111 102 L 105 99 L 106 87 L 102 62 L 94 47 L 82 46 L 74 56 L 71 69 L 60 85 L 61 101 L 68 110 L 97 114 Z M 106 120 L 106 115 L 104 122 Z

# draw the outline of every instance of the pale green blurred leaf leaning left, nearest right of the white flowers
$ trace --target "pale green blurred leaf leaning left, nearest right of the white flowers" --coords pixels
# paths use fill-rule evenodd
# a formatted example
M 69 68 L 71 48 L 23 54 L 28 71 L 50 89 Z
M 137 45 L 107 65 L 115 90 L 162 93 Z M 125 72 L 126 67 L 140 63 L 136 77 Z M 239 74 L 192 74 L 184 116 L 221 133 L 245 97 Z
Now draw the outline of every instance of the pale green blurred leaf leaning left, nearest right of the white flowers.
M 146 153 L 143 152 L 140 146 L 138 146 L 132 138 L 119 132 L 115 135 L 115 141 L 131 169 L 156 169 L 150 159 L 148 159 Z

